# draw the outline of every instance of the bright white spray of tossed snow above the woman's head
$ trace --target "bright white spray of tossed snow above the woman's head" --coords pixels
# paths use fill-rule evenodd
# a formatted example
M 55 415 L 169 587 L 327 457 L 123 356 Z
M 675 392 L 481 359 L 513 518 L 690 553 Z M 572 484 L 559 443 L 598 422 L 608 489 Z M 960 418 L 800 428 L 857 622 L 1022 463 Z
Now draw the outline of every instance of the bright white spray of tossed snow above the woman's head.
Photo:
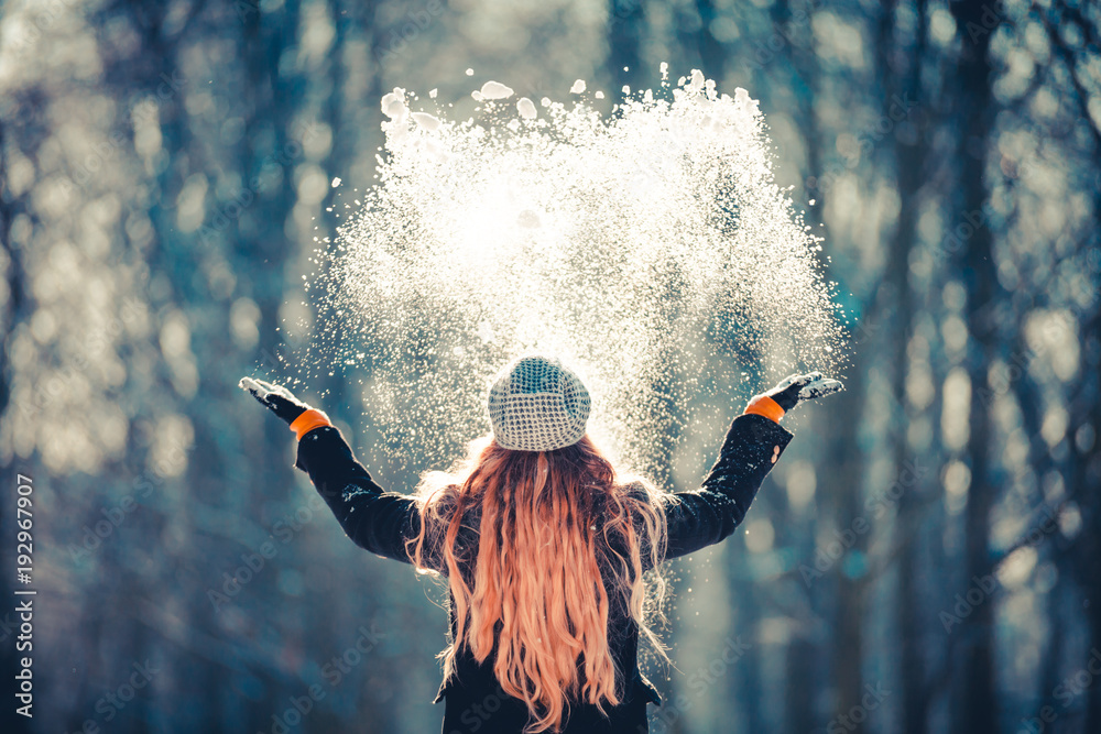
M 657 92 L 624 89 L 607 114 L 581 80 L 568 105 L 487 81 L 467 120 L 383 97 L 378 182 L 315 254 L 307 293 L 330 316 L 304 360 L 356 371 L 377 448 L 454 459 L 524 352 L 574 365 L 590 435 L 646 473 L 694 431 L 713 453 L 792 372 L 842 376 L 820 238 L 774 183 L 756 101 L 662 66 Z

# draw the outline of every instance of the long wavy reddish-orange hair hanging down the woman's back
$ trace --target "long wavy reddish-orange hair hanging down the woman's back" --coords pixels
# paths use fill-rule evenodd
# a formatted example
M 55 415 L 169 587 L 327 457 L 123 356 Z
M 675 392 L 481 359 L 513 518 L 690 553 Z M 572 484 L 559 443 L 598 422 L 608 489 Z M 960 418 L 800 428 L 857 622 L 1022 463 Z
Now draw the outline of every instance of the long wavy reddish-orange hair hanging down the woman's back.
M 570 700 L 601 713 L 625 700 L 610 610 L 626 610 L 668 659 L 646 623 L 651 612 L 664 618 L 658 492 L 617 476 L 588 436 L 554 451 L 513 451 L 482 437 L 450 471 L 426 473 L 416 496 L 421 530 L 406 550 L 419 572 L 446 569 L 455 603 L 456 634 L 438 656 L 444 678 L 460 649 L 478 662 L 495 649 L 502 689 L 527 704 L 525 733 L 558 731 Z M 644 558 L 654 569 L 645 581 Z

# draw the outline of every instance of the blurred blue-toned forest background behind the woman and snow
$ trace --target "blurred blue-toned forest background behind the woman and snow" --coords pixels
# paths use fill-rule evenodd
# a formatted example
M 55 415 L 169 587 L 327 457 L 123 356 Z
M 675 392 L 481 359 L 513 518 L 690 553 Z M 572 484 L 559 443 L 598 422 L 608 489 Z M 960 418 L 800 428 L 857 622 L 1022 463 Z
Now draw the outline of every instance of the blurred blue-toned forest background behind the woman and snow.
M 360 407 L 370 357 L 331 375 L 295 363 L 360 338 L 326 330 L 336 315 L 301 278 L 355 201 L 330 182 L 373 182 L 379 99 L 438 86 L 460 116 L 468 66 L 515 75 L 538 100 L 579 76 L 653 87 L 663 61 L 674 79 L 698 65 L 720 91 L 761 100 L 780 177 L 825 237 L 824 271 L 857 319 L 848 393 L 799 417 L 808 440 L 749 518 L 774 528 L 772 547 L 740 535 L 715 556 L 723 578 L 710 578 L 737 609 L 711 618 L 729 615 L 752 647 L 667 728 L 732 712 L 753 731 L 828 731 L 884 681 L 900 693 L 848 731 L 1015 731 L 1044 705 L 1057 728 L 1101 731 L 1101 686 L 1066 705 L 1057 693 L 1101 649 L 1097 3 L 0 12 L 0 463 L 35 476 L 44 517 L 37 731 L 274 731 L 375 618 L 385 644 L 299 728 L 438 721 L 427 701 L 444 615 L 406 568 L 364 557 L 324 514 L 277 541 L 312 490 L 286 429 L 238 410 L 233 383 L 308 381 L 305 396 L 352 431 L 372 471 L 410 489 L 419 449 L 393 459 Z M 895 95 L 915 101 L 901 121 Z M 668 377 L 691 376 L 679 369 Z M 693 406 L 666 407 L 672 453 Z M 911 461 L 931 469 L 872 512 Z M 113 525 L 126 500 L 134 508 Z M 11 517 L 0 512 L 4 537 Z M 859 521 L 868 533 L 806 583 L 799 566 Z M 211 604 L 224 574 L 273 538 L 279 555 L 229 605 Z M 946 631 L 938 614 L 986 574 L 996 591 Z M 674 647 L 689 627 L 674 625 Z M 102 697 L 146 658 L 163 672 L 106 722 Z M 0 714 L 3 731 L 23 723 Z

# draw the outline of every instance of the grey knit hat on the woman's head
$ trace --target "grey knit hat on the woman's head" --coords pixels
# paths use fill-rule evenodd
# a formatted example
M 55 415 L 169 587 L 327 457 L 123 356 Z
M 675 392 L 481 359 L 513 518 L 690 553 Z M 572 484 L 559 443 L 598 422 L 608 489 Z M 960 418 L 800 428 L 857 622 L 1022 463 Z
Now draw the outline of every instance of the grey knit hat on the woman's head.
M 506 365 L 489 391 L 493 439 L 506 449 L 553 451 L 585 436 L 589 391 L 553 357 L 531 354 Z

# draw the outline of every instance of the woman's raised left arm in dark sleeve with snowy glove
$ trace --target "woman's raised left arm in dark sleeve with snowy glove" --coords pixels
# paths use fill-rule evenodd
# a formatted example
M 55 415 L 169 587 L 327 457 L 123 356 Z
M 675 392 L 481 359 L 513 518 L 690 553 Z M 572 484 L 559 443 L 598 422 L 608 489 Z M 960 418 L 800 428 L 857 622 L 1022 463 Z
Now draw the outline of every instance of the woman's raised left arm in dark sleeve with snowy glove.
M 285 387 L 248 377 L 240 386 L 285 420 L 298 437 L 294 465 L 309 475 L 345 534 L 372 554 L 412 562 L 405 540 L 421 530 L 416 501 L 379 486 L 328 416 Z

